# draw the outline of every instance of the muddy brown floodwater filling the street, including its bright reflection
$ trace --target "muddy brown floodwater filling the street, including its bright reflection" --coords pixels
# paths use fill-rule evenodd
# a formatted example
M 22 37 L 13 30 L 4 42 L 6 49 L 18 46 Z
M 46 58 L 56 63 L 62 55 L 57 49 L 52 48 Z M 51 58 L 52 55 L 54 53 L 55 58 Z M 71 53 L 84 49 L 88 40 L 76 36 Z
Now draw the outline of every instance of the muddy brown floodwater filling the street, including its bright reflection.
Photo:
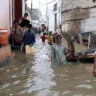
M 35 47 L 35 55 L 16 51 L 11 62 L 0 68 L 0 96 L 96 96 L 92 64 L 53 66 L 50 46 L 37 36 Z

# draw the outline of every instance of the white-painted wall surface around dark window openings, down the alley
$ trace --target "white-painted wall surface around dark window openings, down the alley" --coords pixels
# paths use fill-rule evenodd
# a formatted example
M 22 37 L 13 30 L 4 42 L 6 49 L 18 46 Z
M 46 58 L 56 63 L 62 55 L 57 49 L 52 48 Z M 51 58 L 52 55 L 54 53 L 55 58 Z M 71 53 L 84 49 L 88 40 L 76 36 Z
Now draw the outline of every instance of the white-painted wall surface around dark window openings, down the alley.
M 52 0 L 47 0 L 50 2 Z M 57 11 L 54 11 L 54 5 L 57 3 Z M 61 23 L 61 2 L 56 0 L 47 5 L 47 25 L 49 26 L 49 31 L 55 31 L 55 14 L 57 14 L 57 28 Z

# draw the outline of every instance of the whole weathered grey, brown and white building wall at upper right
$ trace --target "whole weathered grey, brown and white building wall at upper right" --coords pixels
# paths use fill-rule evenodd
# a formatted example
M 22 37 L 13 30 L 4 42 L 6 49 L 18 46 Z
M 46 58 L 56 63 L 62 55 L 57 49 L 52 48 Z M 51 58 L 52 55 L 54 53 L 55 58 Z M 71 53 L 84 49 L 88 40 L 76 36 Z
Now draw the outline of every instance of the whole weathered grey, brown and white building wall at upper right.
M 96 30 L 95 0 L 62 0 L 62 31 L 70 34 Z

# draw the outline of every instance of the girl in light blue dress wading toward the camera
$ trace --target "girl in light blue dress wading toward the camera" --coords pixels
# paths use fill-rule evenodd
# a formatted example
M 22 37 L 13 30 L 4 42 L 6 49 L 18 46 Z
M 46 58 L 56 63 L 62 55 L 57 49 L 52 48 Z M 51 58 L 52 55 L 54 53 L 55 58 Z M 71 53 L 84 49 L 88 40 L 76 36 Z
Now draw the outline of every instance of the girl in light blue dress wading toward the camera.
M 53 44 L 51 47 L 51 62 L 52 64 L 66 64 L 66 48 L 64 44 L 62 44 L 62 35 L 56 35 L 56 44 Z

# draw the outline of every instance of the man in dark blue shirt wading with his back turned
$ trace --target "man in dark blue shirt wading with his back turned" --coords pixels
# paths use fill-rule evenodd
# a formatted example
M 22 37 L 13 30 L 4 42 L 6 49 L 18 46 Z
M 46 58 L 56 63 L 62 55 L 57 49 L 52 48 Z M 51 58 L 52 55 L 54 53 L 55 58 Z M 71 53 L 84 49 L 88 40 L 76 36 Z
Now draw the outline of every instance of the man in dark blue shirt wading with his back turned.
M 28 30 L 25 32 L 23 36 L 22 43 L 23 43 L 23 48 L 22 48 L 23 52 L 25 52 L 26 45 L 32 47 L 33 44 L 35 43 L 35 33 L 34 31 L 32 31 L 32 24 L 28 25 Z

